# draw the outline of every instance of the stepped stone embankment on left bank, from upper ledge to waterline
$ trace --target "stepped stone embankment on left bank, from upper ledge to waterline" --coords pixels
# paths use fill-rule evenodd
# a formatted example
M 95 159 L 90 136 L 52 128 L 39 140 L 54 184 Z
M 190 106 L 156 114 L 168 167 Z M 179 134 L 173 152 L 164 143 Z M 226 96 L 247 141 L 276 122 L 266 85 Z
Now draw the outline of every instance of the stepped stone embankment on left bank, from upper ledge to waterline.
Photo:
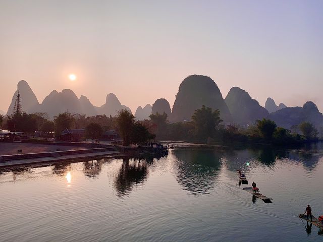
M 25 165 L 43 162 L 58 162 L 82 158 L 94 158 L 106 155 L 117 155 L 123 153 L 116 147 L 65 150 L 56 152 L 40 152 L 15 155 L 1 155 L 0 167 Z

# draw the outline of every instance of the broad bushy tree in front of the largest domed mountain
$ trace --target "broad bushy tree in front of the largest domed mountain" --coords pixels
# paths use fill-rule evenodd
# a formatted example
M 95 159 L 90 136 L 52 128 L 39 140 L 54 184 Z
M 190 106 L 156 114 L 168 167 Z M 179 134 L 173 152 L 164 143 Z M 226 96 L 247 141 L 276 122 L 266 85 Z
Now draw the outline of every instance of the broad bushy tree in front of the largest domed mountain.
M 222 121 L 219 109 L 212 111 L 212 108 L 202 105 L 192 115 L 194 136 L 198 139 L 213 137 Z

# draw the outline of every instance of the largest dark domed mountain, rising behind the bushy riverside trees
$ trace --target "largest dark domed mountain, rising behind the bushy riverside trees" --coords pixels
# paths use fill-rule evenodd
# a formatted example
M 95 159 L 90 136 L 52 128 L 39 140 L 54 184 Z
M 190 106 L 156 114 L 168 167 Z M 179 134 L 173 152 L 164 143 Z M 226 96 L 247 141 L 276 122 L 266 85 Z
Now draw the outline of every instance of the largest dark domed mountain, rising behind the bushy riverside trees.
M 231 114 L 222 94 L 214 81 L 207 76 L 192 75 L 183 80 L 173 106 L 172 120 L 191 120 L 194 111 L 202 105 L 219 109 L 225 122 L 231 121 Z

